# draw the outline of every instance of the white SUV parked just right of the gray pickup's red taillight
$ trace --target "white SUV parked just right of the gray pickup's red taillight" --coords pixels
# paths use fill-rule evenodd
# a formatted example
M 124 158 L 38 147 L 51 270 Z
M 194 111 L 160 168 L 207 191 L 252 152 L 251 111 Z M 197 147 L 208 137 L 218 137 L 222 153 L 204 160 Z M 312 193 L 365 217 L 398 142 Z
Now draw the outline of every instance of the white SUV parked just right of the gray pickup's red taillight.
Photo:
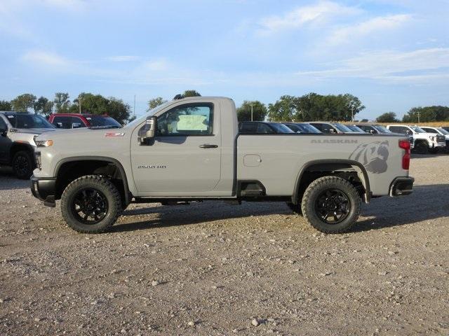
M 415 151 L 420 154 L 436 153 L 444 149 L 445 137 L 438 133 L 427 133 L 420 127 L 409 125 L 387 125 L 387 129 L 394 133 L 411 134 L 415 144 Z

